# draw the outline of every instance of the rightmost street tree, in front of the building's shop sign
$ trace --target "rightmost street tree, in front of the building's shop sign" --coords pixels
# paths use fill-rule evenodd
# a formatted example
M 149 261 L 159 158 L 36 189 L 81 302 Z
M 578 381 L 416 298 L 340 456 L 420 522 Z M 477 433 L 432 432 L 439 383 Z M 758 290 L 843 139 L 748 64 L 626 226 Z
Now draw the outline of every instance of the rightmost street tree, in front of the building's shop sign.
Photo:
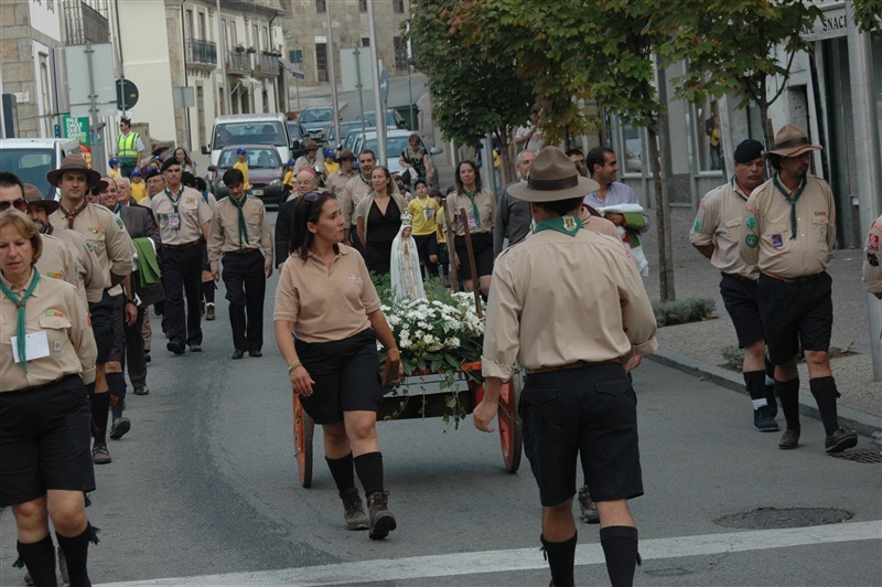
M 753 100 L 765 145 L 772 145 L 768 107 L 787 87 L 796 54 L 813 51 L 802 33 L 820 9 L 806 0 L 682 0 L 679 10 L 685 18 L 659 46 L 668 61 L 688 62 L 674 81 L 675 97 L 700 104 L 735 94 L 739 108 Z

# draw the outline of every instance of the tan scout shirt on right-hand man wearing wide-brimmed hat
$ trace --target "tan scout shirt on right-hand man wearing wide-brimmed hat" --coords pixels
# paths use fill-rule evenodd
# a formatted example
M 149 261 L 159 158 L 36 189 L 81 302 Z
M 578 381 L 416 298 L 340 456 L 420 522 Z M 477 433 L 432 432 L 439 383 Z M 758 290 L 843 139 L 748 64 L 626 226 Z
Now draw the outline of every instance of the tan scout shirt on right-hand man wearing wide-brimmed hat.
M 806 175 L 806 181 L 796 203 L 796 238 L 790 238 L 790 203 L 775 186 L 774 179 L 753 191 L 744 205 L 739 239 L 744 263 L 788 278 L 827 269 L 836 243 L 833 194 L 824 180 Z

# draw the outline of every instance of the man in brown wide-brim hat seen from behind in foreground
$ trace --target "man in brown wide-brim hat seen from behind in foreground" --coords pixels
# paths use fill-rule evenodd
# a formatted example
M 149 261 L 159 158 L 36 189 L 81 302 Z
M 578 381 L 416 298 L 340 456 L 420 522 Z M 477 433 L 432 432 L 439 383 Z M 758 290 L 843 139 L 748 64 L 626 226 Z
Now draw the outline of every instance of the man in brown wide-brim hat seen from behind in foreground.
M 516 361 L 527 370 L 524 448 L 539 485 L 541 543 L 555 585 L 574 583 L 580 452 L 612 584 L 631 584 L 637 561 L 626 500 L 643 494 L 643 480 L 625 365 L 634 354 L 655 352 L 656 322 L 621 242 L 582 228 L 582 199 L 596 189 L 556 147 L 542 149 L 527 181 L 509 188 L 530 203 L 536 227 L 496 258 L 481 357 L 486 392 L 473 414 L 476 428 L 492 431 L 503 382 Z

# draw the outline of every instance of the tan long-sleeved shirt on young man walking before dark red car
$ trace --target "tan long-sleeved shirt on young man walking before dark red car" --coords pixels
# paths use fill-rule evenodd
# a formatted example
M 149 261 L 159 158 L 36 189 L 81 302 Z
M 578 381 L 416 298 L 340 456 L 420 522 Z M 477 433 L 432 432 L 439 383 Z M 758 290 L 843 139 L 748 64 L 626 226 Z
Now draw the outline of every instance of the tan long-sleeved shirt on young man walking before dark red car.
M 263 202 L 257 198 L 246 195 L 247 200 L 241 207 L 245 224 L 248 225 L 248 242 L 245 238 L 239 245 L 239 209 L 233 205 L 229 198 L 224 198 L 217 203 L 217 215 L 212 221 L 212 239 L 208 242 L 208 262 L 212 270 L 217 269 L 217 259 L 224 253 L 254 250 L 259 248 L 263 253 L 266 263 L 272 265 L 272 236 L 269 230 L 269 218 Z

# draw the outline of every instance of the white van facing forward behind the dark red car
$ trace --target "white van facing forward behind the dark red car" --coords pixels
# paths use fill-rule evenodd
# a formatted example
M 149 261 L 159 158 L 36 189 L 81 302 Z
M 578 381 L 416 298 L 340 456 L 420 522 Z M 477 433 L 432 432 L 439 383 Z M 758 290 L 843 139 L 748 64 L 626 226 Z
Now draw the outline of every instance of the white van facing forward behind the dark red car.
M 203 150 L 203 154 L 211 152 L 211 164 L 217 164 L 220 149 L 236 145 L 272 145 L 279 152 L 279 159 L 287 162 L 291 159 L 292 150 L 298 146 L 292 143 L 288 134 L 288 118 L 283 114 L 234 114 L 218 116 L 214 119 L 212 145 Z

